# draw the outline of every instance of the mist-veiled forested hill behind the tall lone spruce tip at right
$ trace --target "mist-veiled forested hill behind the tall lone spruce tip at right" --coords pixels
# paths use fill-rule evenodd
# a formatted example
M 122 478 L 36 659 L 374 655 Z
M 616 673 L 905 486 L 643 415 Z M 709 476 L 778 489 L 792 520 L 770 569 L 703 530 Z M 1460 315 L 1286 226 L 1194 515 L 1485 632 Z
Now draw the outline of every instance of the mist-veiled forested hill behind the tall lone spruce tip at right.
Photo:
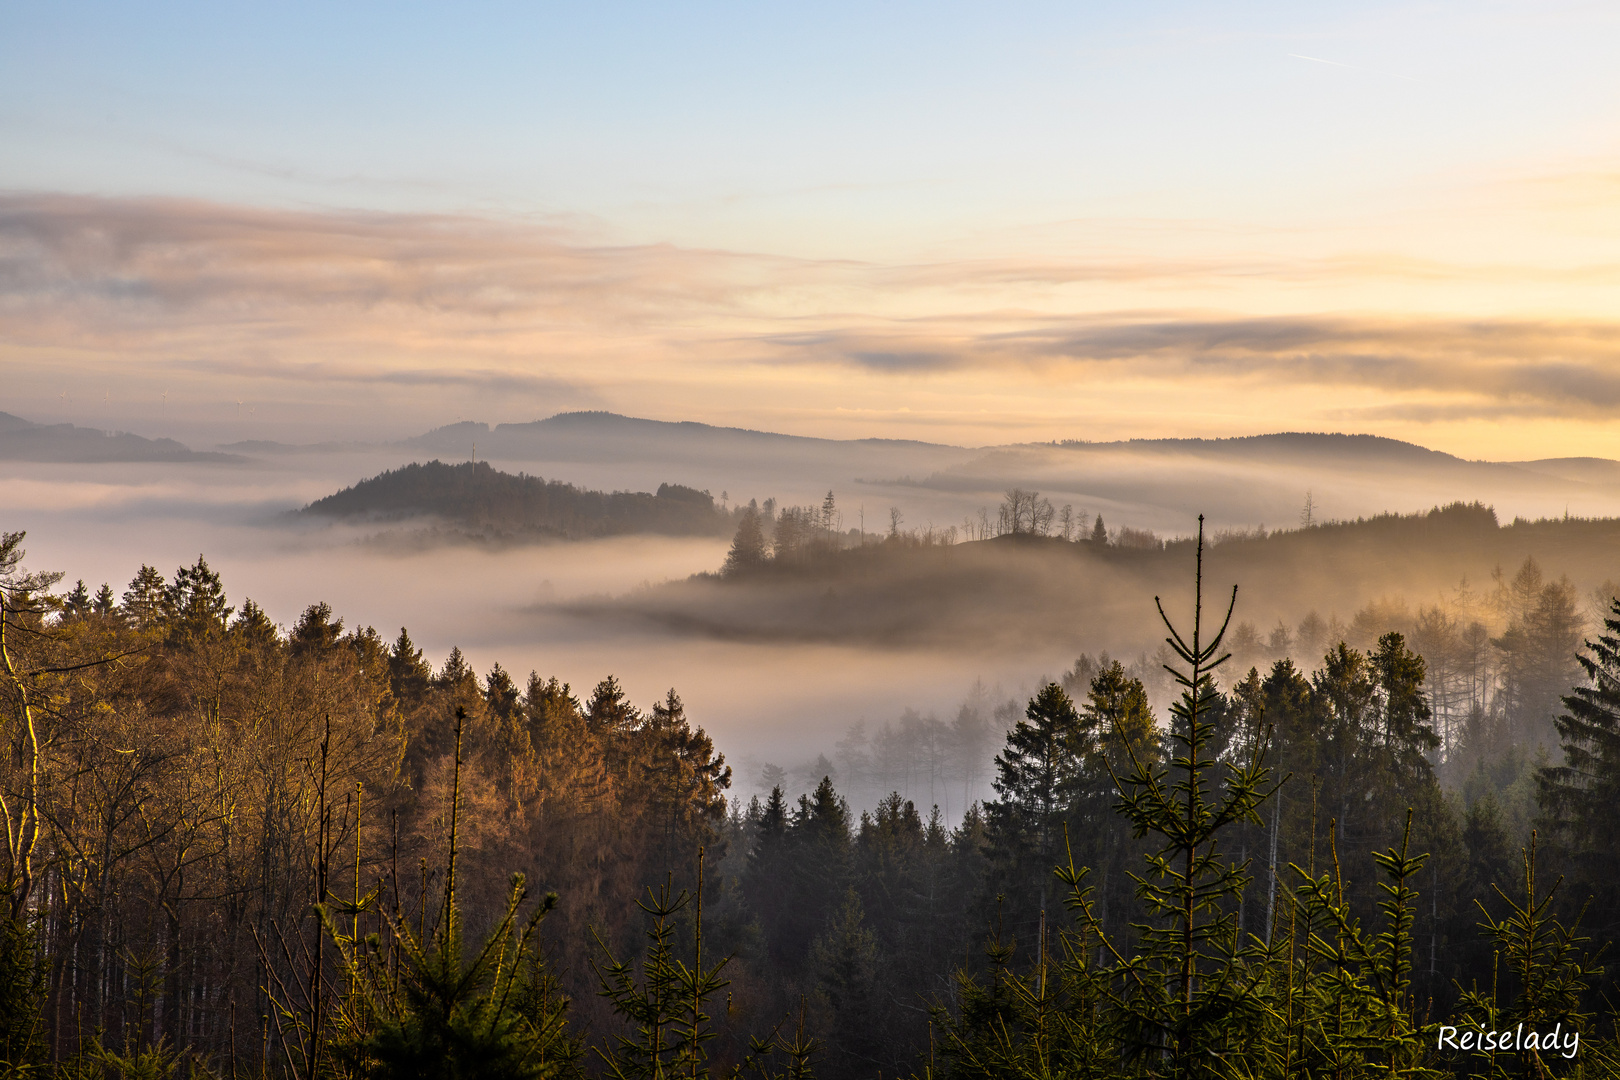
M 1068 641 L 1077 649 L 1129 643 L 1152 651 L 1162 630 L 1140 597 L 1183 593 L 1194 559 L 1184 536 L 1163 541 L 1105 526 L 1098 539 L 1095 521 L 1082 521 L 1064 539 L 1050 515 L 1051 534 L 1024 521 L 1022 531 L 1008 526 L 972 542 L 954 542 L 961 534 L 946 529 L 868 533 L 862 541 L 818 534 L 795 544 L 784 542 L 782 517 L 761 518 L 752 557 L 734 551 L 719 576 L 593 602 L 591 610 L 721 638 Z M 1299 529 L 1212 531 L 1204 570 L 1220 588 L 1241 586 L 1238 619 L 1264 638 L 1280 622 L 1296 627 L 1311 612 L 1348 625 L 1374 602 L 1403 612 L 1382 628 L 1406 628 L 1437 604 L 1489 606 L 1500 591 L 1498 572 L 1511 576 L 1526 559 L 1550 581 L 1568 576 L 1584 602 L 1592 589 L 1620 588 L 1617 551 L 1620 518 L 1498 523 L 1489 507 L 1456 504 Z

